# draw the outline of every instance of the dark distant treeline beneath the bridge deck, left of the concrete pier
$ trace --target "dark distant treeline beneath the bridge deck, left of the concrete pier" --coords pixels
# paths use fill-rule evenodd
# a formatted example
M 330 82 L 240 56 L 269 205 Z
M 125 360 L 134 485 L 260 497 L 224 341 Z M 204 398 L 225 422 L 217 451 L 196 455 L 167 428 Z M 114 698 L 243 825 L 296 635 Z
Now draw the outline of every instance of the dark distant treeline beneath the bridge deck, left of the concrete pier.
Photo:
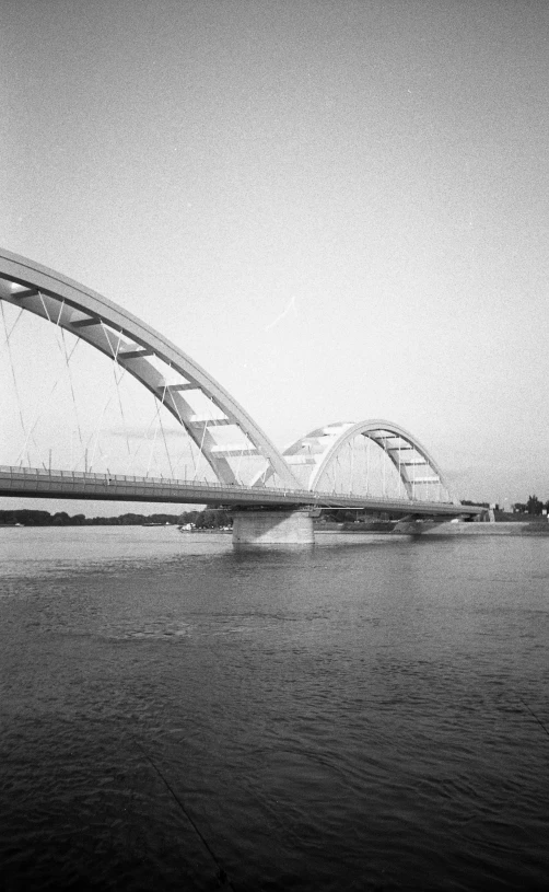
M 183 514 L 119 514 L 116 518 L 86 518 L 85 514 L 73 514 L 58 511 L 36 511 L 30 508 L 0 511 L 0 526 L 21 523 L 23 526 L 141 526 L 143 523 L 192 523 L 197 528 L 226 526 L 232 523 L 226 511 L 207 509 L 206 511 L 185 511 Z

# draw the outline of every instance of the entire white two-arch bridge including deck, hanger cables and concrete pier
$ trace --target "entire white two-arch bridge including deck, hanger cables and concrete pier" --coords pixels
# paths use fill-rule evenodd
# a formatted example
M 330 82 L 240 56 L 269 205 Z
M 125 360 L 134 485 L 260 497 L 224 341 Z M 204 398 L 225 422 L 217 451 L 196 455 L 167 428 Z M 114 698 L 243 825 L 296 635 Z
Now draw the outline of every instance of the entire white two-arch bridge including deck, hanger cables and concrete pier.
M 97 292 L 8 251 L 0 251 L 0 309 L 13 416 L 21 422 L 16 454 L 0 466 L 1 496 L 223 505 L 234 512 L 235 544 L 247 545 L 312 542 L 311 518 L 319 508 L 389 514 L 400 519 L 400 529 L 410 531 L 423 529 L 425 521 L 471 518 L 483 510 L 462 505 L 419 440 L 385 419 L 330 422 L 279 451 L 231 394 L 165 336 Z M 33 320 L 25 335 L 22 318 Z M 52 333 L 60 367 L 47 391 L 49 398 L 38 397 L 30 416 L 22 392 L 33 338 L 42 347 L 40 379 L 46 378 L 42 360 L 50 352 L 42 346 L 36 318 Z M 93 350 L 78 371 L 73 358 L 80 344 Z M 92 352 L 103 357 L 103 366 L 113 367 L 110 385 L 100 386 L 100 371 L 89 371 Z M 80 399 L 79 373 L 84 380 Z M 133 450 L 130 441 L 136 435 L 127 425 L 122 379 L 137 382 L 139 392 L 152 394 L 154 403 L 152 425 L 147 435 L 137 436 Z M 77 419 L 77 450 L 71 430 L 70 460 L 66 414 L 51 427 L 62 382 Z M 97 390 L 105 391 L 101 417 L 85 429 L 82 414 Z M 107 409 L 116 404 L 127 452 L 118 455 L 114 470 L 114 448 L 107 454 L 104 442 L 109 433 Z M 142 417 L 140 408 L 137 417 Z M 50 424 L 49 438 L 56 440 L 59 455 L 65 449 L 69 467 L 61 470 L 62 464 L 52 461 L 47 433 L 40 442 L 40 419 L 46 430 Z M 16 437 L 9 439 L 12 445 Z M 139 452 L 143 439 L 150 445 L 145 473 L 126 473 L 125 463 Z M 175 459 L 170 440 L 176 444 Z M 154 473 L 159 443 L 164 471 Z

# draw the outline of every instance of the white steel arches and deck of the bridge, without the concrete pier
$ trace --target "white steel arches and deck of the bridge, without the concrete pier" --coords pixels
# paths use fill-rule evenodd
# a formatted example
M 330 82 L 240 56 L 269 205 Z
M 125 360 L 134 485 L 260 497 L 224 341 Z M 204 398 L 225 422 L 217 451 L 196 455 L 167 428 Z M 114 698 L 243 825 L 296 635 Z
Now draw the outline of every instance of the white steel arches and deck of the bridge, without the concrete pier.
M 151 326 L 101 294 L 27 258 L 0 250 L 0 309 L 16 308 L 89 344 L 153 394 L 207 463 L 210 482 L 28 467 L 0 468 L 0 495 L 150 500 L 241 506 L 334 506 L 395 515 L 451 518 L 480 509 L 460 506 L 434 459 L 408 431 L 386 420 L 317 428 L 280 452 L 245 409 L 207 371 Z M 5 327 L 5 343 L 11 329 Z M 354 444 L 365 444 L 357 486 Z M 393 490 L 372 494 L 374 447 Z M 351 449 L 352 448 L 352 449 Z M 354 450 L 354 451 L 352 451 Z M 347 477 L 340 468 L 349 453 Z M 348 455 L 348 457 L 349 457 Z M 349 464 L 349 462 L 348 462 Z M 242 468 L 248 467 L 247 479 Z M 361 477 L 364 482 L 364 473 Z

